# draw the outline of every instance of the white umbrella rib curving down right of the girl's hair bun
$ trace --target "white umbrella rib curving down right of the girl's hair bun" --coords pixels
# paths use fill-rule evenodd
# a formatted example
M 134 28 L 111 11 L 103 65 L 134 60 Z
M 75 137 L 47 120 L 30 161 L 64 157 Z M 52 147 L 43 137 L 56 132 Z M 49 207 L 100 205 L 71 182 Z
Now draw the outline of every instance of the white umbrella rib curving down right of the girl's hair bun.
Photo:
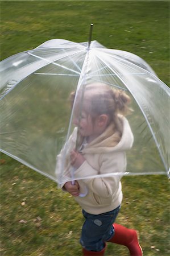
M 97 57 L 106 65 L 105 61 L 103 61 L 99 56 L 97 56 Z M 114 71 L 114 69 L 111 68 L 109 65 L 108 65 L 108 67 L 111 69 L 111 71 L 117 73 L 117 72 Z M 150 73 L 150 72 L 148 72 L 148 73 Z M 150 73 L 150 74 L 151 74 L 151 73 Z M 152 74 L 151 74 L 151 75 L 152 75 Z M 134 97 L 134 93 L 128 88 L 128 86 L 125 84 L 125 82 L 124 82 L 123 79 L 119 76 L 118 73 L 117 73 L 117 76 L 118 76 L 118 78 L 123 82 L 123 84 L 127 87 L 127 89 L 128 89 L 129 92 L 132 94 L 132 96 Z M 156 77 L 156 76 L 154 76 L 154 77 Z M 157 78 L 157 77 L 156 77 L 156 78 Z M 134 97 L 134 99 L 135 99 L 135 97 Z M 168 166 L 167 166 L 167 164 L 165 163 L 165 160 L 164 160 L 164 157 L 163 157 L 162 152 L 160 151 L 160 145 L 159 145 L 159 143 L 157 142 L 157 139 L 156 139 L 156 136 L 155 136 L 154 131 L 153 131 L 153 129 L 152 129 L 152 126 L 150 125 L 150 122 L 148 121 L 148 118 L 147 118 L 146 114 L 144 113 L 143 109 L 141 108 L 141 106 L 140 106 L 138 100 L 135 99 L 135 101 L 136 101 L 136 103 L 138 104 L 138 106 L 139 106 L 141 112 L 143 113 L 144 118 L 146 119 L 147 125 L 148 125 L 148 127 L 149 127 L 149 129 L 150 129 L 150 131 L 151 131 L 151 134 L 152 134 L 152 136 L 153 136 L 153 138 L 154 138 L 154 141 L 155 141 L 155 143 L 156 143 L 157 150 L 159 151 L 160 158 L 161 158 L 161 160 L 162 160 L 162 162 L 163 162 L 163 164 L 164 164 L 165 170 L 167 170 L 167 172 L 168 172 Z

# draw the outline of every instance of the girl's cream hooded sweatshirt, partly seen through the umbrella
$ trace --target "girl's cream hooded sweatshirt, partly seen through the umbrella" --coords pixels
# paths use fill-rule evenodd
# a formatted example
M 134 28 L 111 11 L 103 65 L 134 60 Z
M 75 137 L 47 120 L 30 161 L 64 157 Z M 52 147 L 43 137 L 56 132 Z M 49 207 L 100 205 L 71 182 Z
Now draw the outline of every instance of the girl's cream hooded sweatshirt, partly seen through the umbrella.
M 126 150 L 132 147 L 134 137 L 130 125 L 125 117 L 121 117 L 123 132 L 122 137 L 114 131 L 114 124 L 111 123 L 107 129 L 94 141 L 87 144 L 82 150 L 86 159 L 84 163 L 74 171 L 74 179 L 78 181 L 80 190 L 88 188 L 85 197 L 74 197 L 81 208 L 91 214 L 101 214 L 117 208 L 122 203 L 121 177 L 126 171 Z M 70 179 L 71 165 L 69 155 L 76 146 L 77 128 L 67 143 L 65 150 L 66 160 L 64 164 L 64 181 Z M 57 156 L 57 168 L 61 168 L 62 151 Z M 118 173 L 121 173 L 118 175 Z M 117 175 L 113 175 L 117 173 Z M 94 177 L 99 175 L 98 177 Z

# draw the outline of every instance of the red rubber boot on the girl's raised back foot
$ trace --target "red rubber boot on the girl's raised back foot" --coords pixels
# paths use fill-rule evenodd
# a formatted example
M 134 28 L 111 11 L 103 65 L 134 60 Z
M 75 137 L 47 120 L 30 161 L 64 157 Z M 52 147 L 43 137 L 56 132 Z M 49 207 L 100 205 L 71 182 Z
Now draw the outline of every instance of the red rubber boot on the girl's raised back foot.
M 127 229 L 125 226 L 114 223 L 114 236 L 107 242 L 118 243 L 127 246 L 131 256 L 142 256 L 142 248 L 138 242 L 136 230 Z

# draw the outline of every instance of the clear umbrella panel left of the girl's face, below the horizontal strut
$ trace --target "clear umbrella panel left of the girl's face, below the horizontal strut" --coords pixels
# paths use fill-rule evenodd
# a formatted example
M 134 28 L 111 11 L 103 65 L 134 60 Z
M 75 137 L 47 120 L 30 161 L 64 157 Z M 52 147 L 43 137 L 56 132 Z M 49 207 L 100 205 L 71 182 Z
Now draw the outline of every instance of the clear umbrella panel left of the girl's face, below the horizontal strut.
M 31 75 L 1 100 L 1 148 L 51 179 L 71 115 L 69 94 L 77 76 Z M 69 88 L 68 85 L 69 84 Z

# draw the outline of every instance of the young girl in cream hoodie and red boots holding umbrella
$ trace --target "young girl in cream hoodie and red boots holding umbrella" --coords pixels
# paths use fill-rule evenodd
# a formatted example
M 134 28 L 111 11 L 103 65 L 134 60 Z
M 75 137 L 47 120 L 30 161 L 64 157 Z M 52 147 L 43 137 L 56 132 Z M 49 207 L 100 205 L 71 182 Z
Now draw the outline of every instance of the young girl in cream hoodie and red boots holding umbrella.
M 72 101 L 74 97 L 73 93 Z M 105 84 L 86 85 L 83 98 L 76 96 L 73 119 L 76 128 L 67 144 L 64 175 L 67 180 L 69 170 L 74 168 L 77 181 L 65 182 L 61 187 L 82 207 L 83 255 L 104 255 L 106 242 L 127 246 L 131 256 L 142 255 L 136 231 L 114 223 L 122 202 L 122 174 L 111 174 L 126 171 L 126 150 L 134 140 L 124 116 L 129 103 L 130 97 L 125 92 Z M 61 156 L 62 152 L 59 161 Z M 103 176 L 94 177 L 99 174 Z M 84 187 L 88 193 L 80 197 Z

